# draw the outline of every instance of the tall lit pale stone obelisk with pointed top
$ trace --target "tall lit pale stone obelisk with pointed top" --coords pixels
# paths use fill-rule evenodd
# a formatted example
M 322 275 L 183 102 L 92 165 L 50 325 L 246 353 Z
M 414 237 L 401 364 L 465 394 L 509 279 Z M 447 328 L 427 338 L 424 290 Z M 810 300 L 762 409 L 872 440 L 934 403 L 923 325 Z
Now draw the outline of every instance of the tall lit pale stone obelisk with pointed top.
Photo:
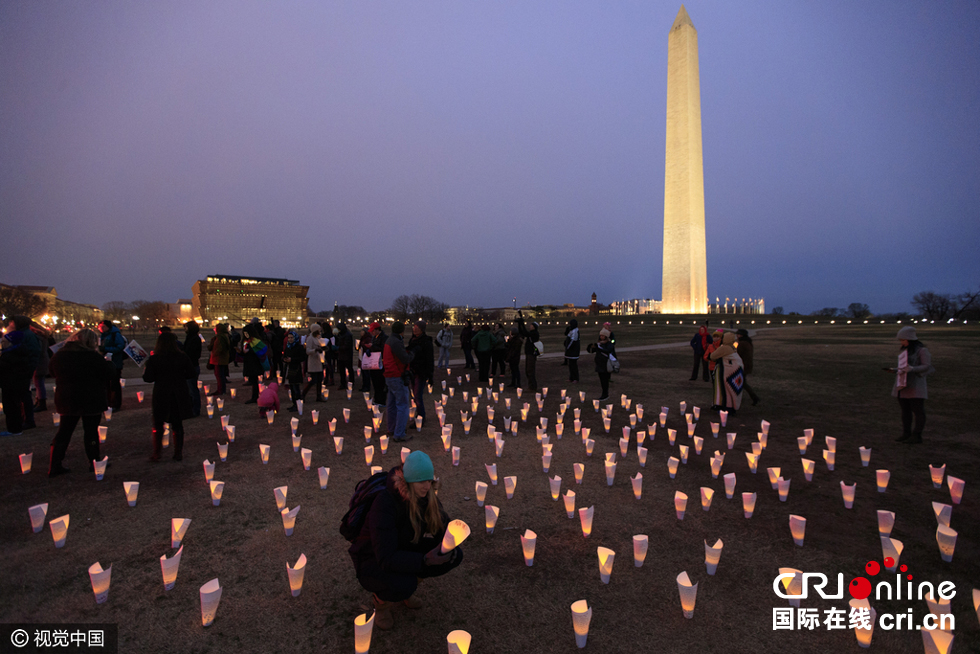
M 662 313 L 707 313 L 698 33 L 684 5 L 667 36 Z

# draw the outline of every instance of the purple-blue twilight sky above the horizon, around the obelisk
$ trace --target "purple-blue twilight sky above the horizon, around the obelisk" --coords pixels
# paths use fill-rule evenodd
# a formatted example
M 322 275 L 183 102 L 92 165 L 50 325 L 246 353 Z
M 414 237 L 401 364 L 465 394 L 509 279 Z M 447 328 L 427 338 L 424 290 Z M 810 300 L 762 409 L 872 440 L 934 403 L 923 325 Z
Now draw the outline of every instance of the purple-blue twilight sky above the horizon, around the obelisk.
M 660 297 L 677 2 L 0 2 L 0 282 Z M 980 283 L 980 2 L 686 4 L 709 295 Z

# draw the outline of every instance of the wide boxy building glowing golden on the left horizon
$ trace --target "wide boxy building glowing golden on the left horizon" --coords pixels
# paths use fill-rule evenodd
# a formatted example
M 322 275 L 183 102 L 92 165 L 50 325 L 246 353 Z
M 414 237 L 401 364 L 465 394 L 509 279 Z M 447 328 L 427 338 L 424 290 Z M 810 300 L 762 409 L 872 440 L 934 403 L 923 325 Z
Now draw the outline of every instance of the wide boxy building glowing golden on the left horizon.
M 283 326 L 295 326 L 306 321 L 309 290 L 295 279 L 208 275 L 194 282 L 192 312 L 205 324 L 240 325 L 258 318 L 263 323 L 278 320 Z

